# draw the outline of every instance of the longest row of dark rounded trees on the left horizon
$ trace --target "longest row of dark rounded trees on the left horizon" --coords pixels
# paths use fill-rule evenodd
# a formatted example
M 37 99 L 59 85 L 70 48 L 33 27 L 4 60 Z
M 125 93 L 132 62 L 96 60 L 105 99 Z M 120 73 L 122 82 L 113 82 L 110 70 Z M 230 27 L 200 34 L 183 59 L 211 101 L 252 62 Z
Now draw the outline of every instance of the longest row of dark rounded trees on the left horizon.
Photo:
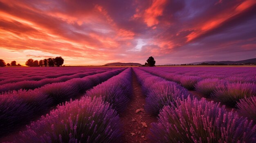
M 26 66 L 62 66 L 64 59 L 62 57 L 48 58 L 43 60 L 28 59 Z

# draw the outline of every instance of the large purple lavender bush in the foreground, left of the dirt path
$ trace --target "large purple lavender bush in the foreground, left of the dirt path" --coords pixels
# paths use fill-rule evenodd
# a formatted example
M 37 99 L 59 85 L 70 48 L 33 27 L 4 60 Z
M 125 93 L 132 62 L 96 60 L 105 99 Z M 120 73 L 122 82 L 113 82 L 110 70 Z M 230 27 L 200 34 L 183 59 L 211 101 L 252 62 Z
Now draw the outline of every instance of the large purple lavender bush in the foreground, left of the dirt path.
M 117 112 L 100 98 L 66 102 L 46 117 L 31 123 L 17 143 L 113 143 L 120 142 Z

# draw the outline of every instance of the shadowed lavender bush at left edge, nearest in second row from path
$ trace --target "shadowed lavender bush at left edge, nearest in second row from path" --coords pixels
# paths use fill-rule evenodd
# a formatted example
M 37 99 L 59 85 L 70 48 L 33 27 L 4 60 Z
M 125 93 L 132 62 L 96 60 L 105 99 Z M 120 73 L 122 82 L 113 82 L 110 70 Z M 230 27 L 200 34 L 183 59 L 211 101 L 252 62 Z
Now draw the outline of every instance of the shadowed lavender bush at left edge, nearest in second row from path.
M 0 95 L 0 132 L 11 132 L 18 124 L 27 123 L 47 110 L 53 101 L 40 91 L 19 90 Z

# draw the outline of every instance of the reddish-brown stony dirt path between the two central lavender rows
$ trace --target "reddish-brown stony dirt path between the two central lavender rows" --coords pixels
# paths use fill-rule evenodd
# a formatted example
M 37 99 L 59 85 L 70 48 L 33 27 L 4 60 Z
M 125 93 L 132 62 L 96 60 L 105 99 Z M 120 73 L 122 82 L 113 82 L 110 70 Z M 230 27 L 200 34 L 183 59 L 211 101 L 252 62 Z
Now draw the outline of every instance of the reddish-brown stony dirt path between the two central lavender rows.
M 150 124 L 157 121 L 156 117 L 144 112 L 145 98 L 135 73 L 132 72 L 133 97 L 126 111 L 120 114 L 124 125 L 124 143 L 148 143 L 147 135 L 150 132 Z M 141 109 L 135 113 L 137 109 Z

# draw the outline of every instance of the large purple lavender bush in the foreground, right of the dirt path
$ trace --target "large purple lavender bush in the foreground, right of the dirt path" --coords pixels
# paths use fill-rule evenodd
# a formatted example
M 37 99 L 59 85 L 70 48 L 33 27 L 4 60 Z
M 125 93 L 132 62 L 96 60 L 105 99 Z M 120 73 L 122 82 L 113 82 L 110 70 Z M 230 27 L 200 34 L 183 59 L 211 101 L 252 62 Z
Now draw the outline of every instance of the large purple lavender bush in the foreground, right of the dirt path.
M 157 123 L 152 123 L 153 143 L 254 143 L 256 125 L 236 112 L 204 98 L 178 99 L 165 106 Z

